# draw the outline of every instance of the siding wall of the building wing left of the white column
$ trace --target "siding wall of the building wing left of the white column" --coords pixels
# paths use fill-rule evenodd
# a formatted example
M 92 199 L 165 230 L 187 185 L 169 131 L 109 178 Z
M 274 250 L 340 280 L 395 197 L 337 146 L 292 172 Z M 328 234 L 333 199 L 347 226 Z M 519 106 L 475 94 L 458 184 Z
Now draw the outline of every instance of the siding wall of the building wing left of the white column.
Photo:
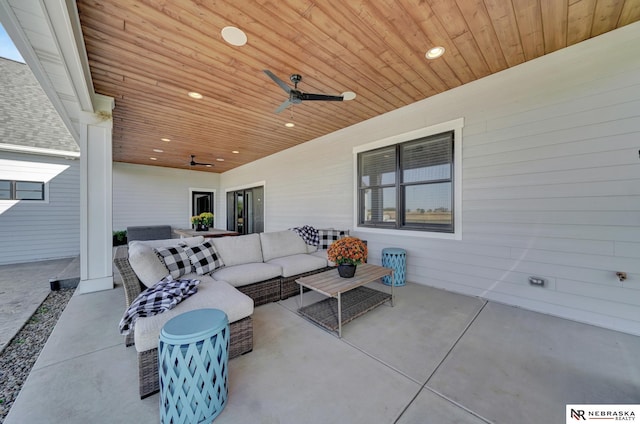
M 0 179 L 48 183 L 45 202 L 0 200 L 0 265 L 80 254 L 80 161 L 0 152 Z

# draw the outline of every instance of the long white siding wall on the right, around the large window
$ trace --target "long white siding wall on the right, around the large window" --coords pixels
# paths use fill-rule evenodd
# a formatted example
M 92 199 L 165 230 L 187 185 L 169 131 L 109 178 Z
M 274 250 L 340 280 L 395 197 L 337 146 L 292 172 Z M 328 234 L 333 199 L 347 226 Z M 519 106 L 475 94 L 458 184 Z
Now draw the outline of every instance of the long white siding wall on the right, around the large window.
M 234 169 L 221 190 L 266 181 L 268 231 L 351 228 L 354 147 L 464 118 L 463 240 L 355 231 L 370 261 L 402 247 L 409 281 L 640 334 L 638 45 L 640 23 Z

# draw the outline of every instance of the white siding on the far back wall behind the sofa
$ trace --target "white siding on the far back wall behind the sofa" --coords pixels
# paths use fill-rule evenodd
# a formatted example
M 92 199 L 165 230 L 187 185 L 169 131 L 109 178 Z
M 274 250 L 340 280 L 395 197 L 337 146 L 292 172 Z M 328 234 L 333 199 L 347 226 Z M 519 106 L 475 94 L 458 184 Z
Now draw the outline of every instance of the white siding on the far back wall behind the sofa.
M 156 166 L 113 164 L 113 229 L 136 225 L 191 227 L 189 188 L 216 190 L 219 174 Z M 215 202 L 220 202 L 216 190 Z M 225 221 L 216 214 L 216 227 Z

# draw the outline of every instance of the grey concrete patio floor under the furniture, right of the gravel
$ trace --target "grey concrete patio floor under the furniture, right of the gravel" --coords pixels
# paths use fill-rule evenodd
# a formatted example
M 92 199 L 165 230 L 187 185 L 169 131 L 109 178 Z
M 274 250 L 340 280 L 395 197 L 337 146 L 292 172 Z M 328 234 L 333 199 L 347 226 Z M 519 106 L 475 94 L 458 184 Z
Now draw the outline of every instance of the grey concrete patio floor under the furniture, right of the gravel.
M 298 301 L 255 309 L 216 423 L 564 423 L 568 403 L 640 403 L 640 337 L 407 284 L 338 339 Z M 5 424 L 157 423 L 123 309 L 119 285 L 73 296 Z

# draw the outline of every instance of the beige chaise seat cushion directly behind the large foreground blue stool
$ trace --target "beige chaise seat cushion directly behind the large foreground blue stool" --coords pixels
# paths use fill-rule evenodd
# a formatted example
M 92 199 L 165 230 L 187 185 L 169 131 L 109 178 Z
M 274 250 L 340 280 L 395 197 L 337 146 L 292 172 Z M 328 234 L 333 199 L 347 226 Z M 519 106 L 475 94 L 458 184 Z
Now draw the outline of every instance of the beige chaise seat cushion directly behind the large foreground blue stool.
M 183 278 L 200 280 L 198 292 L 175 308 L 158 315 L 138 318 L 134 327 L 136 351 L 144 352 L 158 347 L 160 330 L 171 318 L 184 312 L 201 308 L 215 308 L 227 314 L 229 323 L 236 322 L 253 314 L 253 300 L 225 281 L 214 281 L 206 275 L 187 274 Z

